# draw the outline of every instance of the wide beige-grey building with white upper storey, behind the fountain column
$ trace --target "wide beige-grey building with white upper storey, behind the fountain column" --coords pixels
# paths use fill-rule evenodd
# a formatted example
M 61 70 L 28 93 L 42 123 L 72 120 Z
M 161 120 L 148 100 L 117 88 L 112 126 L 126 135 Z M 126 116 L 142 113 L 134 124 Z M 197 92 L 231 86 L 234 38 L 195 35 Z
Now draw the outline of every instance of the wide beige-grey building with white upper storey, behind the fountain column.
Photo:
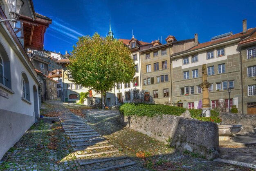
M 207 65 L 211 108 L 223 103 L 226 109 L 236 104 L 242 112 L 241 65 L 238 42 L 254 29 L 215 36 L 209 42 L 171 56 L 173 102 L 185 108 L 197 108 L 202 99 L 202 64 Z M 229 101 L 228 88 L 232 88 Z

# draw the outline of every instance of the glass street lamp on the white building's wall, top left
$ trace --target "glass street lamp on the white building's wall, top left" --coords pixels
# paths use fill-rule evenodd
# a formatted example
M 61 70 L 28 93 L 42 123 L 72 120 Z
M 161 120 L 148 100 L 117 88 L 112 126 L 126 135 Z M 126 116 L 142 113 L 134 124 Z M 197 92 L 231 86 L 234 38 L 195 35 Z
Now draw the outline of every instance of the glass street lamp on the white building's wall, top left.
M 19 16 L 20 9 L 24 4 L 24 2 L 22 2 L 21 0 L 5 0 L 5 1 L 9 8 L 9 15 L 11 15 L 12 19 L 2 20 L 2 18 L 0 18 L 0 22 L 4 22 L 4 21 L 17 22 L 17 19 L 20 17 Z

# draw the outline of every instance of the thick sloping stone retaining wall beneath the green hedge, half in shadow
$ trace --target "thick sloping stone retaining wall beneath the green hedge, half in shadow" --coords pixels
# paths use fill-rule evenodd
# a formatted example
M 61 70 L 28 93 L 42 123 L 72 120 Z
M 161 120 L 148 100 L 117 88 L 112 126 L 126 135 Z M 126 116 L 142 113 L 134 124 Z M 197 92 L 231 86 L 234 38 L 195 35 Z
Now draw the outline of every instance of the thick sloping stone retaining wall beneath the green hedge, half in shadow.
M 127 117 L 122 113 L 119 119 L 124 126 L 168 143 L 180 151 L 199 153 L 207 159 L 219 156 L 218 126 L 213 122 L 202 122 L 174 115 L 154 118 Z

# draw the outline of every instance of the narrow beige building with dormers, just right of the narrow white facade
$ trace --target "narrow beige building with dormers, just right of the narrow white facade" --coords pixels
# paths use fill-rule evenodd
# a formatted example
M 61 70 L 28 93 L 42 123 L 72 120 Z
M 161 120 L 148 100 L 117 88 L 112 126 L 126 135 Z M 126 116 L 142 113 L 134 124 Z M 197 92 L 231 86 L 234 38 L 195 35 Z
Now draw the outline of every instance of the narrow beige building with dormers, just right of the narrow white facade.
M 155 40 L 152 47 L 140 51 L 143 102 L 172 102 L 170 55 L 195 45 L 195 39 L 177 41 L 174 36 L 168 36 L 166 42 Z

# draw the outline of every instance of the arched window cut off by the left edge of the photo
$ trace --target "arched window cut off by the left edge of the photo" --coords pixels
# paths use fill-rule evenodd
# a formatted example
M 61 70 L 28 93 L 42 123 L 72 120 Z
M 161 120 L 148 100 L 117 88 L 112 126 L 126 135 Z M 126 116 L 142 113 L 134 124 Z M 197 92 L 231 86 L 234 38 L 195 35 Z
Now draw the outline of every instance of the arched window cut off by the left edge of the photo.
M 10 61 L 4 47 L 0 43 L 0 83 L 11 89 Z

